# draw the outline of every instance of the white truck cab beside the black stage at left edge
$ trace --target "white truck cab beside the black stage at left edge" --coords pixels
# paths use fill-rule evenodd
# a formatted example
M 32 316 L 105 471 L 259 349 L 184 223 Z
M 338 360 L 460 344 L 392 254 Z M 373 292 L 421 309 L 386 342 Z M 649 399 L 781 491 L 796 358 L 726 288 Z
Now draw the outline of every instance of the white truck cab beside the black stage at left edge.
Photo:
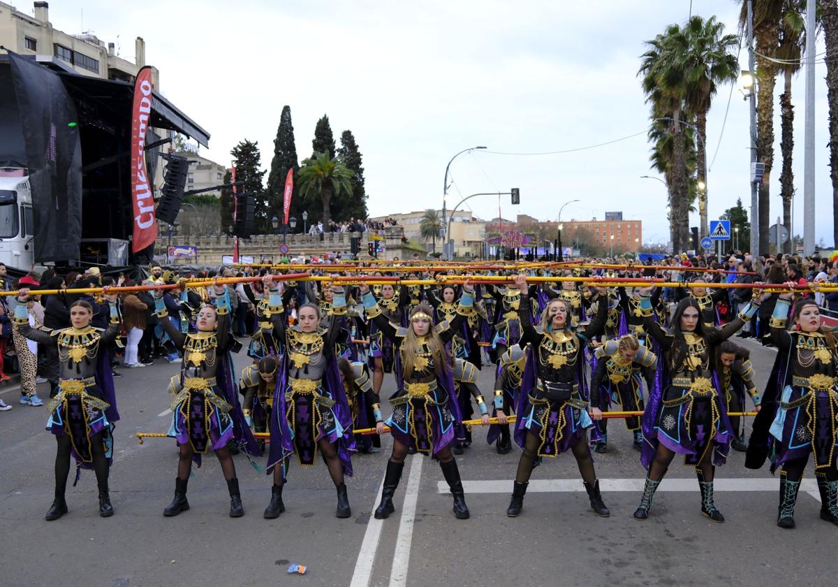
M 33 238 L 28 170 L 0 168 L 0 262 L 29 271 L 34 264 Z

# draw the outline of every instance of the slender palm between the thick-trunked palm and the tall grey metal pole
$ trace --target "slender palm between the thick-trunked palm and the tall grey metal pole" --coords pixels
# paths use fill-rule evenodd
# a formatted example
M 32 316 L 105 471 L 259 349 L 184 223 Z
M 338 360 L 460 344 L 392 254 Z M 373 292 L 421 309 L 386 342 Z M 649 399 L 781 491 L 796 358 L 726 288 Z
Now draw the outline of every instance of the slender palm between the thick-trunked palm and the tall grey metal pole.
M 786 0 L 783 13 L 783 28 L 780 29 L 779 48 L 777 58 L 784 61 L 779 65 L 783 72 L 784 91 L 780 94 L 780 154 L 783 166 L 780 171 L 780 197 L 783 200 L 783 224 L 792 230 L 791 201 L 794 198 L 794 106 L 791 103 L 792 76 L 800 70 L 800 58 L 804 49 L 804 33 L 806 28 L 803 17 L 805 0 Z M 786 242 L 784 250 L 791 253 L 791 239 Z

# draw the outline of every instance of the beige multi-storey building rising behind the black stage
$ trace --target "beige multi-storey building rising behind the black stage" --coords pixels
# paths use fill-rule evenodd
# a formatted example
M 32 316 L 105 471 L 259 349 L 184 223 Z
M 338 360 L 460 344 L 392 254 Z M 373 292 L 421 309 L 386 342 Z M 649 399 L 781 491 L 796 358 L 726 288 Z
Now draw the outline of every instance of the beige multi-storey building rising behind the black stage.
M 146 65 L 146 44 L 137 37 L 134 61 L 116 55 L 113 43 L 105 44 L 94 34 L 67 34 L 49 22 L 49 3 L 34 3 L 34 15 L 0 2 L 0 44 L 20 55 L 37 55 L 39 60 L 57 60 L 82 75 L 104 80 L 132 82 Z M 160 75 L 152 68 L 152 83 L 160 89 Z

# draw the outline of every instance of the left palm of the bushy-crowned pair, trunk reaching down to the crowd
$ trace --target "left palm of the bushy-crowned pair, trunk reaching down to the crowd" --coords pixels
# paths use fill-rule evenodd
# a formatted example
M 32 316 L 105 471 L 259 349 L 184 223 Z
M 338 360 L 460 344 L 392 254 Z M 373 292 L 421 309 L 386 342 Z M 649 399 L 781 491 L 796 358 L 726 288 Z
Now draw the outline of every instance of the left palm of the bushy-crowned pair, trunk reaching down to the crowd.
M 687 173 L 685 165 L 684 115 L 686 93 L 684 72 L 672 58 L 672 38 L 680 27 L 672 24 L 664 34 L 646 41 L 649 50 L 641 55 L 638 75 L 642 75 L 646 101 L 652 105 L 652 117 L 672 119 L 672 157 L 670 160 L 670 206 L 672 209 L 672 247 L 675 252 L 685 251 L 690 224 L 687 210 Z

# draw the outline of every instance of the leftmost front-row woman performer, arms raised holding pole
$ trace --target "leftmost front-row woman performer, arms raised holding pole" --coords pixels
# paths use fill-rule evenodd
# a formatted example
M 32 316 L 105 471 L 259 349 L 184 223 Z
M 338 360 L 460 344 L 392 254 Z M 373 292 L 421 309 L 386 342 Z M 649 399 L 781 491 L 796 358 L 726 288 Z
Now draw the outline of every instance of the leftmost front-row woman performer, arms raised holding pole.
M 108 490 L 108 473 L 113 462 L 113 429 L 119 420 L 113 388 L 111 360 L 107 346 L 121 330 L 116 294 L 105 297 L 110 305 L 106 330 L 91 326 L 93 308 L 85 300 L 70 304 L 70 328 L 36 330 L 28 320 L 28 288 L 18 291 L 13 323 L 18 333 L 44 348 L 57 349 L 58 393 L 47 404 L 47 430 L 55 435 L 55 499 L 45 519 L 53 521 L 68 512 L 65 490 L 70 474 L 70 455 L 76 463 L 76 481 L 81 469 L 96 471 L 99 486 L 99 515 L 113 515 Z M 74 483 L 75 485 L 75 483 Z

